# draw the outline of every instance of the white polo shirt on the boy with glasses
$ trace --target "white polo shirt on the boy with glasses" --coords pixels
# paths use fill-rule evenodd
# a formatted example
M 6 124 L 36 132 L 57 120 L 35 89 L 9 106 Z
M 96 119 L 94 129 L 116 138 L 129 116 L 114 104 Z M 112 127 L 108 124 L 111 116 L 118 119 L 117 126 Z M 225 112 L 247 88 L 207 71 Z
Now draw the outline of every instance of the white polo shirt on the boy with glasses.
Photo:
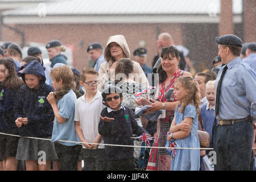
M 86 93 L 85 93 L 86 94 Z M 75 121 L 80 121 L 80 127 L 84 138 L 89 142 L 93 142 L 98 135 L 98 123 L 100 122 L 100 114 L 104 106 L 102 104 L 101 92 L 98 91 L 92 101 L 85 100 L 85 94 L 76 100 L 75 105 Z M 104 143 L 101 140 L 100 143 Z M 85 146 L 82 146 L 85 148 Z M 99 145 L 98 148 L 105 148 Z

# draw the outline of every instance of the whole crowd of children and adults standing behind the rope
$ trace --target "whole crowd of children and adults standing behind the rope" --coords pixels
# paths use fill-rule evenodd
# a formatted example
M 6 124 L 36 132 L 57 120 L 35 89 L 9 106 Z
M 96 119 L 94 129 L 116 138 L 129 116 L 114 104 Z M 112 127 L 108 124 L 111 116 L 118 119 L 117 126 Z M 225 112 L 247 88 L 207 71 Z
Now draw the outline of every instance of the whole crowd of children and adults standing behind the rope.
M 88 46 L 90 63 L 80 71 L 67 65 L 59 40 L 46 44 L 51 65 L 39 47 L 22 57 L 18 44 L 5 42 L 0 170 L 77 171 L 83 161 L 85 171 L 131 171 L 134 148 L 127 146 L 140 135 L 153 137 L 151 150 L 141 148 L 142 170 L 255 170 L 256 43 L 232 34 L 215 41 L 212 70 L 198 73 L 167 32 L 158 36 L 152 65 L 146 48 L 131 59 L 125 36 L 113 35 L 105 48 Z M 144 114 L 161 114 L 135 114 L 142 106 Z M 199 130 L 216 152 L 212 168 Z

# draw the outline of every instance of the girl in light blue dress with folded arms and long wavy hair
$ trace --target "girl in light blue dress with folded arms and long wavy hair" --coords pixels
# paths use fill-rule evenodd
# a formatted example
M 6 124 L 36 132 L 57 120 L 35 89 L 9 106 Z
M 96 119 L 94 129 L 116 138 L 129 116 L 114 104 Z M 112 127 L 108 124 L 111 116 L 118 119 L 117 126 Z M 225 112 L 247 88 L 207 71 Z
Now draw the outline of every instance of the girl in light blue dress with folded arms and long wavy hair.
M 181 148 L 200 148 L 197 136 L 200 113 L 200 91 L 191 77 L 180 77 L 175 82 L 174 96 L 180 103 L 175 109 L 175 117 L 170 127 L 167 140 L 174 140 Z M 176 149 L 171 162 L 171 171 L 198 171 L 200 169 L 200 150 Z

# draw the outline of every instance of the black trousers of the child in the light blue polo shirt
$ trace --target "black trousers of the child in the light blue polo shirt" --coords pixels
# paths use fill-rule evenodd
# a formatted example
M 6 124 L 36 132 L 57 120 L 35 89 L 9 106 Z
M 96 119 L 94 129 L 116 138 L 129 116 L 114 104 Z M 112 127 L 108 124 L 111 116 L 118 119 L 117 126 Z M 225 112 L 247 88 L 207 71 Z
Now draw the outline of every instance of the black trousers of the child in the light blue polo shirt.
M 75 146 L 64 146 L 55 142 L 55 151 L 60 162 L 61 171 L 77 171 L 77 162 L 82 146 L 76 144 Z

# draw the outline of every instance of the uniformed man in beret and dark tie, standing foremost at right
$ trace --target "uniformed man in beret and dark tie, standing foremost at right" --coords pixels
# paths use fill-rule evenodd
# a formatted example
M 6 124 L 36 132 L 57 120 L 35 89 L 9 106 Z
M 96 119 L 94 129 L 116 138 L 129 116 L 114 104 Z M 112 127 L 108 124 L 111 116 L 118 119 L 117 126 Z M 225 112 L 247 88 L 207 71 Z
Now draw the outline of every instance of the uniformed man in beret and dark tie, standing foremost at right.
M 253 123 L 256 122 L 256 74 L 241 61 L 242 40 L 236 35 L 215 39 L 222 63 L 215 85 L 214 170 L 250 170 Z

